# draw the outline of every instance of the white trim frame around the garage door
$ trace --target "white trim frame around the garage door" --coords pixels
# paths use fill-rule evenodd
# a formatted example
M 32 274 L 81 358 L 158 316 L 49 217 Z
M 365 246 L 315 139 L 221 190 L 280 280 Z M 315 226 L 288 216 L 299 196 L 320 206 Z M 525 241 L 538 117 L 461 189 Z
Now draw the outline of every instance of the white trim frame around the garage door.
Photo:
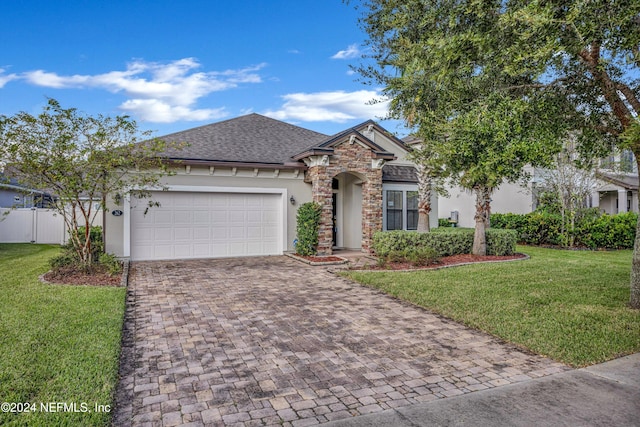
M 287 247 L 287 209 L 289 197 L 286 188 L 263 188 L 263 187 L 210 187 L 198 185 L 168 185 L 164 189 L 156 187 L 136 188 L 130 191 L 168 191 L 168 192 L 193 192 L 193 193 L 240 193 L 240 194 L 280 194 L 282 240 L 278 245 L 278 252 L 283 254 Z M 123 255 L 131 256 L 131 199 L 130 193 L 124 197 L 124 224 L 123 224 Z

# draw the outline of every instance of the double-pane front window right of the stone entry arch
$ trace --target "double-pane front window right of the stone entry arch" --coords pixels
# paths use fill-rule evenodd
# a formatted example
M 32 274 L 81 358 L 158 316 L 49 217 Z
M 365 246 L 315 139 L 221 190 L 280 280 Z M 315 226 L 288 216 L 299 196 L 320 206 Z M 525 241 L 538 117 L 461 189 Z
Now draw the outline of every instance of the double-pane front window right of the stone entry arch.
M 389 231 L 417 230 L 418 192 L 414 190 L 415 186 L 407 188 L 394 185 L 389 187 L 392 189 L 384 191 L 384 229 Z

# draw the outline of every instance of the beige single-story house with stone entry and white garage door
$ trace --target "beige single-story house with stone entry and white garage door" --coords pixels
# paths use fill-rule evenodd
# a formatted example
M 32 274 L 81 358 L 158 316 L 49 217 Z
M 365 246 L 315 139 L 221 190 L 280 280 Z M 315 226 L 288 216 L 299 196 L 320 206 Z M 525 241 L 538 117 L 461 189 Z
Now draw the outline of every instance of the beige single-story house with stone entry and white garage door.
M 416 228 L 409 148 L 373 121 L 329 136 L 249 114 L 161 139 L 188 144 L 163 154 L 176 162 L 163 181 L 169 191 L 153 193 L 161 206 L 146 215 L 135 192 L 109 206 L 108 252 L 133 260 L 282 254 L 294 250 L 297 208 L 309 201 L 322 206 L 320 254 L 369 252 L 375 232 Z M 437 226 L 437 209 L 430 220 Z

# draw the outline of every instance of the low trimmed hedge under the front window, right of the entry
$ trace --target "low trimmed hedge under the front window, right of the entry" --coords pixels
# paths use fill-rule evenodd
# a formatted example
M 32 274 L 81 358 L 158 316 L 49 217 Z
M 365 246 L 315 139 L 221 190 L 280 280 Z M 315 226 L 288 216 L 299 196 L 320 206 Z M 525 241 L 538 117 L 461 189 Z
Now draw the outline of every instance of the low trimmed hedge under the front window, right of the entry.
M 487 230 L 487 255 L 511 255 L 516 250 L 517 233 L 512 230 Z M 386 258 L 406 248 L 431 248 L 437 256 L 469 254 L 473 248 L 472 229 L 436 228 L 431 233 L 417 231 L 381 231 L 373 236 L 373 250 Z

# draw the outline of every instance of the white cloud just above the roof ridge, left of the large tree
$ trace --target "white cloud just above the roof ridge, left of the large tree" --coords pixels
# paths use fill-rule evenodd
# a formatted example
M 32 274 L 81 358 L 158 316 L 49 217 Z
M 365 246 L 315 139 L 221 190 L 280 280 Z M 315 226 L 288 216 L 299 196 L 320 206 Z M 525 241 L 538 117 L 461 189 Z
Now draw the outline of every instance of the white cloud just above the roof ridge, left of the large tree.
M 370 90 L 292 93 L 282 98 L 285 103 L 280 109 L 263 114 L 278 120 L 343 123 L 353 119 L 386 117 L 389 108 L 388 101 L 372 103 L 382 96 Z

